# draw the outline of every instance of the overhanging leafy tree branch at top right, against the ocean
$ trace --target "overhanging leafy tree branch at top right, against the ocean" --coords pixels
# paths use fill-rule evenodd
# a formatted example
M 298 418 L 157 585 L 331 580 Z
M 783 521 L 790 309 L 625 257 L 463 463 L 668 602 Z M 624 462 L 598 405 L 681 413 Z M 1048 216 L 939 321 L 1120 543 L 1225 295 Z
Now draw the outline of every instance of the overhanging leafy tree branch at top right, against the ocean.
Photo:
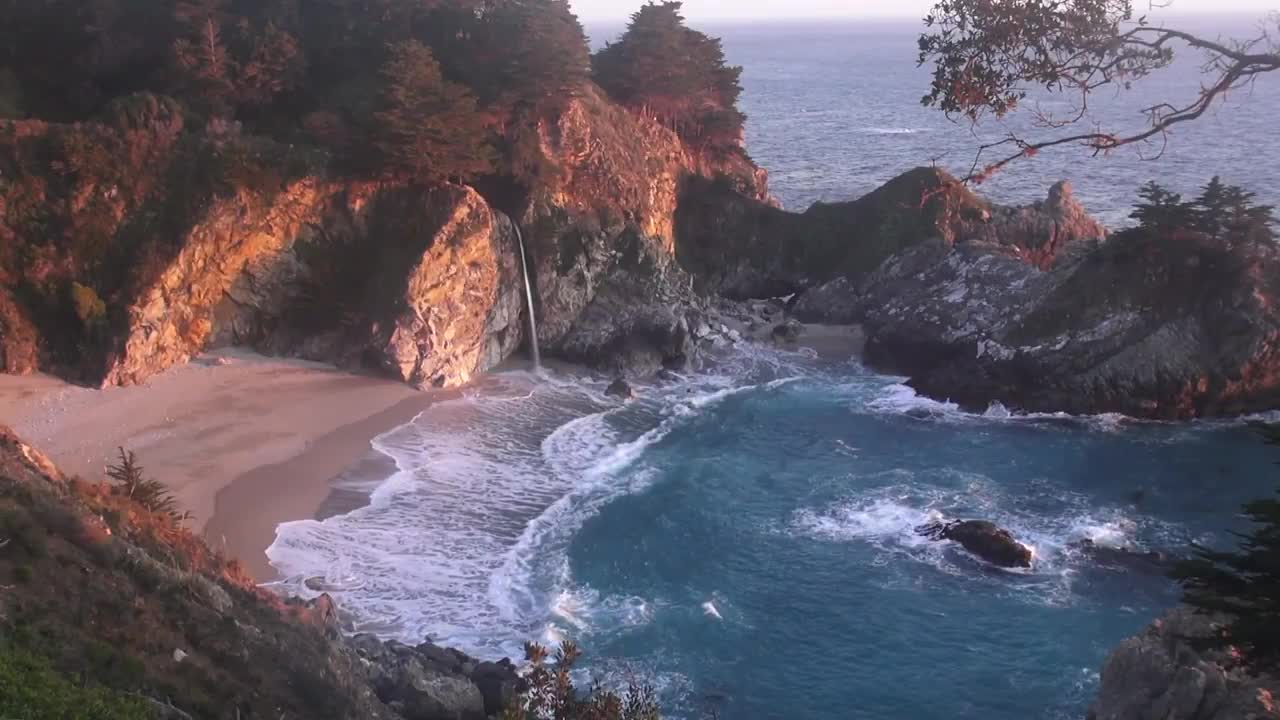
M 1162 147 L 1169 128 L 1280 69 L 1280 37 L 1265 27 L 1252 38 L 1211 40 L 1135 17 L 1132 0 L 941 0 L 924 23 L 919 61 L 933 65 L 925 105 L 978 122 L 987 114 L 1004 117 L 1038 88 L 1066 94 L 1074 105 L 1062 117 L 1037 111 L 1038 127 L 1055 132 L 1088 126 L 1046 140 L 1010 133 L 983 145 L 966 182 L 982 182 L 1019 158 L 1057 145 L 1083 145 L 1094 154 L 1135 143 Z M 1280 31 L 1280 14 L 1268 23 L 1272 32 Z M 1094 92 L 1132 88 L 1172 64 L 1178 50 L 1204 55 L 1204 77 L 1190 97 L 1146 108 L 1146 123 L 1126 131 L 1106 129 L 1091 117 Z M 1000 155 L 986 161 L 986 151 Z

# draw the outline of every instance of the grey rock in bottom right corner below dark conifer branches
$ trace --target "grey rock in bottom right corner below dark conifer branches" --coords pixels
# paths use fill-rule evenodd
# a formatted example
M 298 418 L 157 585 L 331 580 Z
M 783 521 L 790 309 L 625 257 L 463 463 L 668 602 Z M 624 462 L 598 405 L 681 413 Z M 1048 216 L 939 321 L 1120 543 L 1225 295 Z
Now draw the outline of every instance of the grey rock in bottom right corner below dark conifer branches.
M 1280 680 L 1251 675 L 1230 651 L 1202 650 L 1212 618 L 1174 610 L 1120 643 L 1102 667 L 1089 720 L 1280 717 Z

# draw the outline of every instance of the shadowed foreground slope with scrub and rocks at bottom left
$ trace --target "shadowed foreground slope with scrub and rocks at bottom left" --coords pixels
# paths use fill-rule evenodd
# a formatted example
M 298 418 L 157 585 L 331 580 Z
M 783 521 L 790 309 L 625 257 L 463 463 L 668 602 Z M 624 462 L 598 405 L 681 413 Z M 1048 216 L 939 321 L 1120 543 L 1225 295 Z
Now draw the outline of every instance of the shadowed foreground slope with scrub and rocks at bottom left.
M 23 691 L 0 693 L 0 712 L 22 717 L 483 720 L 520 688 L 509 662 L 340 637 L 328 596 L 255 587 L 164 512 L 63 475 L 4 427 L 0 585 L 0 673 Z M 73 693 L 83 703 L 67 707 Z

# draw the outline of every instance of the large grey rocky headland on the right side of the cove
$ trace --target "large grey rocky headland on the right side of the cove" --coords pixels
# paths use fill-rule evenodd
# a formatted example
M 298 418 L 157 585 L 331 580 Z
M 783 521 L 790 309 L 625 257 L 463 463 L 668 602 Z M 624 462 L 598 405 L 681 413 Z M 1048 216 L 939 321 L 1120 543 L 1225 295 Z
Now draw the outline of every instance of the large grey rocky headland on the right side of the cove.
M 1144 418 L 1280 405 L 1280 258 L 1265 243 L 1129 231 L 1048 272 L 937 243 L 861 286 L 868 363 L 975 410 Z

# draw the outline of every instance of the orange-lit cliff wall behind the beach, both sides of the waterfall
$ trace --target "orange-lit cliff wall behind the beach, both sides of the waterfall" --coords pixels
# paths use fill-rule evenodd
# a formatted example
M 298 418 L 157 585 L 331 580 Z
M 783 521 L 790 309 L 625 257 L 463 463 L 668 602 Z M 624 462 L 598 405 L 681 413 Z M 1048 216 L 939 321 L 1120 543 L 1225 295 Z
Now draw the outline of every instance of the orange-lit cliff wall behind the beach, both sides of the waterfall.
M 698 306 L 672 261 L 681 191 L 705 174 L 767 201 L 763 172 L 594 88 L 532 129 L 532 179 L 481 183 L 486 199 L 334 177 L 292 147 L 189 132 L 155 96 L 101 123 L 0 123 L 0 364 L 125 384 L 243 345 L 463 383 L 529 340 L 512 217 L 540 345 L 609 369 L 680 361 Z

